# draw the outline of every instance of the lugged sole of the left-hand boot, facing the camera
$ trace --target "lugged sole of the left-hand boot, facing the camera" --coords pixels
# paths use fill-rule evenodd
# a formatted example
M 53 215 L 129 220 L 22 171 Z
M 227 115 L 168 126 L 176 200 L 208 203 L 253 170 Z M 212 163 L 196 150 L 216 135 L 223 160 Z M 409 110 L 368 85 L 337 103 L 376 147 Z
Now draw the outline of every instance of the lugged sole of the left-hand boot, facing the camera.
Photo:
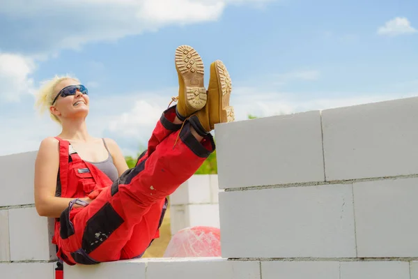
M 189 45 L 180 45 L 176 49 L 176 69 L 185 83 L 185 105 L 195 112 L 206 105 L 208 96 L 204 84 L 204 66 L 199 53 Z

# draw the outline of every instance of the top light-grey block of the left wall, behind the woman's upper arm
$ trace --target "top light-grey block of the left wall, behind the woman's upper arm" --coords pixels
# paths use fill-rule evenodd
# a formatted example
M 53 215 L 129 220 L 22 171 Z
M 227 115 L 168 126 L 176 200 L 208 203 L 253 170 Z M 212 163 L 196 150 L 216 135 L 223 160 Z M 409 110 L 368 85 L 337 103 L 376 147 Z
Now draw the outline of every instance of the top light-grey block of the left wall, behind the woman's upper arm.
M 0 206 L 35 203 L 33 176 L 37 154 L 38 151 L 31 151 L 0 156 Z

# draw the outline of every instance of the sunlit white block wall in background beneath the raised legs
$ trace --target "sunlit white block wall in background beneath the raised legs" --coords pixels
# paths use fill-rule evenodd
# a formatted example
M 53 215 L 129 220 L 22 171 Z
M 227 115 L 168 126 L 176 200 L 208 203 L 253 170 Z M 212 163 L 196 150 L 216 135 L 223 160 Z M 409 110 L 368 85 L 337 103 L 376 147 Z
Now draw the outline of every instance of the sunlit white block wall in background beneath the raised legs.
M 170 196 L 171 235 L 195 226 L 219 228 L 217 174 L 196 174 Z

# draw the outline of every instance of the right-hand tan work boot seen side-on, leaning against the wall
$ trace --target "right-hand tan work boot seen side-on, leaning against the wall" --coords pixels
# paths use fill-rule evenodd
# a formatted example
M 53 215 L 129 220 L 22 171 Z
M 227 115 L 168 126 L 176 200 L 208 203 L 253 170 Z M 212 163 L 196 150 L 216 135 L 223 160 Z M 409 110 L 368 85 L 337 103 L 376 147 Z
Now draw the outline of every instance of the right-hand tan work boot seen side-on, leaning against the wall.
M 215 124 L 235 120 L 233 107 L 229 105 L 231 77 L 222 61 L 210 64 L 208 102 L 202 110 L 190 116 L 189 122 L 199 135 L 204 136 L 215 129 Z

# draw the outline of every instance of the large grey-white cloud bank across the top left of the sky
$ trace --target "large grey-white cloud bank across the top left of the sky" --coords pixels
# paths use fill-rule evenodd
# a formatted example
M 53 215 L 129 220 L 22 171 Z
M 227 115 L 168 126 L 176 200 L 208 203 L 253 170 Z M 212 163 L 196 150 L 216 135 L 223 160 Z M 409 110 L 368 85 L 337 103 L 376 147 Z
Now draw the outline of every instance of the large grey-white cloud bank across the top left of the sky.
M 169 24 L 215 21 L 229 4 L 268 1 L 75 0 L 52 4 L 47 0 L 3 0 L 0 26 L 7 24 L 8 29 L 0 29 L 0 49 L 52 54 L 86 43 L 155 31 Z

